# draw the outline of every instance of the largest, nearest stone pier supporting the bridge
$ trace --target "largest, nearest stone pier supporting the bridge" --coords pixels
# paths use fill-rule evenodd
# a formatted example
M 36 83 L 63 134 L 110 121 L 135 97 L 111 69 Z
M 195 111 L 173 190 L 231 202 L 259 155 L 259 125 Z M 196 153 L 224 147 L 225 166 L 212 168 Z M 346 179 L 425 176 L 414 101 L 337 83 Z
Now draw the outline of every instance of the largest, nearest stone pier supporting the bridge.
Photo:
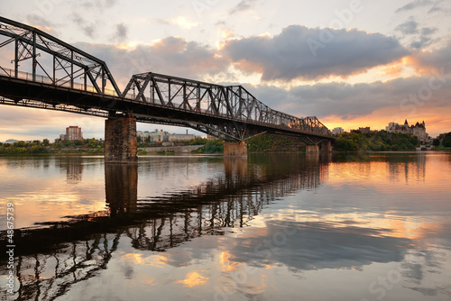
M 105 122 L 105 162 L 137 163 L 136 119 L 108 118 Z

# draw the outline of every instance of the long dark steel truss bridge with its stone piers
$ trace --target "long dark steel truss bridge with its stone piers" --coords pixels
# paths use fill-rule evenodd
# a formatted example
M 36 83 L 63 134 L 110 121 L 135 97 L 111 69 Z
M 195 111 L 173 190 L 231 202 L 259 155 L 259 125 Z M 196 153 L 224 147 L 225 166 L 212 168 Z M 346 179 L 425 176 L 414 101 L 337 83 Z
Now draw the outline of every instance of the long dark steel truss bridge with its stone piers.
M 317 117 L 273 110 L 242 86 L 148 72 L 121 91 L 103 60 L 37 28 L 0 17 L 0 39 L 0 105 L 106 118 L 107 162 L 137 160 L 136 122 L 207 133 L 228 156 L 247 155 L 245 141 L 262 133 L 298 137 L 308 152 L 335 139 Z

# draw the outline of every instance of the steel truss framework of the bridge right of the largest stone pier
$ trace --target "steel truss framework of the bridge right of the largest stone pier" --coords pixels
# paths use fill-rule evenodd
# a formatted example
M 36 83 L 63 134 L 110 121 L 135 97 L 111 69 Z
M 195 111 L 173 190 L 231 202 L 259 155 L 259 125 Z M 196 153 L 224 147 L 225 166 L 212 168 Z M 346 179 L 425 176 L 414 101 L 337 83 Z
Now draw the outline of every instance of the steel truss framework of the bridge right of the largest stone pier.
M 273 110 L 242 86 L 220 86 L 149 72 L 133 75 L 122 96 L 147 104 L 226 119 L 229 122 L 189 123 L 189 127 L 226 140 L 243 141 L 266 132 L 253 130 L 250 124 L 329 135 L 327 127 L 317 117 L 299 118 Z

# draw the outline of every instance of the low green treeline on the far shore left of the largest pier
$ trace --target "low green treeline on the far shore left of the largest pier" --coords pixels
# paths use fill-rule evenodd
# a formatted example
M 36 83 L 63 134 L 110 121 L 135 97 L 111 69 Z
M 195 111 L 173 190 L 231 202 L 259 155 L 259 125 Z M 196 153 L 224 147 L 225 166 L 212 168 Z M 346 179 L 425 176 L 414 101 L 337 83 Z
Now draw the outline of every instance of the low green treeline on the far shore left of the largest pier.
M 60 141 L 51 143 L 48 139 L 43 141 L 18 141 L 14 143 L 0 143 L 0 154 L 39 154 L 39 153 L 67 153 L 104 151 L 104 141 L 95 138 L 78 141 Z

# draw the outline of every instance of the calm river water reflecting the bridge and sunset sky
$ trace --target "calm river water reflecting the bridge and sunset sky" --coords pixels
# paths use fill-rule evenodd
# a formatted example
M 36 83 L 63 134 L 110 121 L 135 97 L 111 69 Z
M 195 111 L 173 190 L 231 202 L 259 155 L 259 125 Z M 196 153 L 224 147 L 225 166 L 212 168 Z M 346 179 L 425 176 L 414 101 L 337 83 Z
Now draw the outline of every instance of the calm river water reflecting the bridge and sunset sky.
M 0 300 L 451 300 L 449 152 L 3 157 L 0 176 Z

